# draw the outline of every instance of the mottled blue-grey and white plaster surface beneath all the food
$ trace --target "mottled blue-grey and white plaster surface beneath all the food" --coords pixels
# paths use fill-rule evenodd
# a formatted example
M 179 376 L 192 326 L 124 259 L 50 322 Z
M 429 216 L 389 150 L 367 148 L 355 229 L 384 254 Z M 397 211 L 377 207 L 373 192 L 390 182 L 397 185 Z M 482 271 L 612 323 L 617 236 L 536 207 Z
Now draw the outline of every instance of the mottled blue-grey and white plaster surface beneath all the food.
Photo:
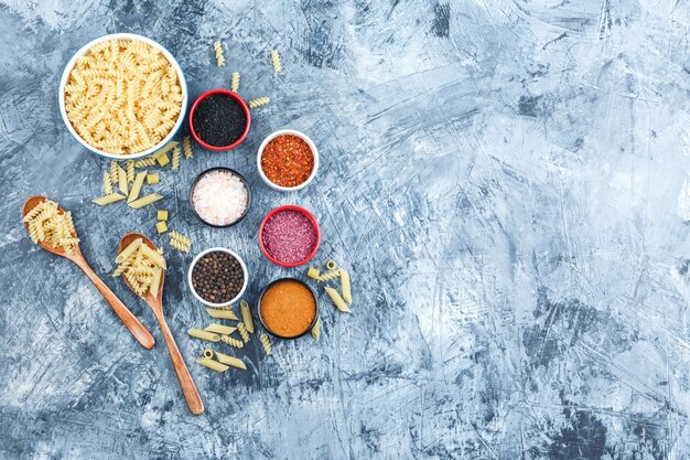
M 690 458 L 690 3 L 254 3 L 0 4 L 0 459 Z M 317 260 L 354 274 L 353 314 L 322 302 L 320 343 L 266 359 L 255 340 L 246 373 L 193 365 L 201 417 L 162 343 L 137 346 L 19 222 L 25 196 L 60 200 L 104 277 L 121 234 L 153 233 L 153 208 L 89 203 L 106 164 L 57 111 L 64 64 L 110 32 L 168 46 L 192 97 L 237 69 L 244 96 L 273 99 L 241 148 L 197 149 L 162 176 L 194 252 L 238 250 L 256 299 L 300 272 L 255 243 L 269 208 L 298 203 L 324 231 Z M 322 153 L 292 195 L 256 173 L 280 127 Z M 187 206 L 193 176 L 217 164 L 254 186 L 238 227 L 202 228 Z M 166 311 L 192 362 L 202 345 L 184 330 L 205 318 L 183 282 L 191 256 L 169 255 Z M 160 342 L 147 308 L 108 284 Z

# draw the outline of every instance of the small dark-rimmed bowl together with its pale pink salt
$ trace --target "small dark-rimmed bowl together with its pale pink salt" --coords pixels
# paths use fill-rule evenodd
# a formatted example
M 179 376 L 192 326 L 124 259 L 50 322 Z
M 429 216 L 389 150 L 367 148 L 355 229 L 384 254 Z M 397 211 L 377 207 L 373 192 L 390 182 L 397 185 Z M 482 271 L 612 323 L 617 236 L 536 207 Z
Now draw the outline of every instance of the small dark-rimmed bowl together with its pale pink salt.
M 230 178 L 224 178 L 223 175 L 230 175 Z M 240 215 L 237 215 L 237 213 L 240 212 L 241 207 L 227 207 L 228 205 L 231 206 L 234 204 L 230 203 L 234 193 L 241 197 L 241 190 L 224 190 L 237 186 L 238 182 L 233 181 L 231 176 L 239 179 L 239 184 L 244 185 L 244 191 L 246 191 L 245 210 L 241 211 Z M 200 190 L 197 190 L 197 185 L 200 185 Z M 225 201 L 223 199 L 225 199 Z M 201 204 L 202 202 L 203 205 Z M 220 218 L 216 218 L 212 222 L 214 217 L 212 215 L 214 211 L 213 207 L 216 207 L 217 212 L 218 206 L 224 204 L 226 205 L 225 211 L 233 215 L 227 220 L 227 222 L 222 222 Z M 201 172 L 192 182 L 192 186 L 190 188 L 190 205 L 192 206 L 192 212 L 196 218 L 202 221 L 204 224 L 216 228 L 231 227 L 233 225 L 240 223 L 249 212 L 249 206 L 251 205 L 251 190 L 249 189 L 249 183 L 245 176 L 234 169 L 225 167 L 211 168 Z

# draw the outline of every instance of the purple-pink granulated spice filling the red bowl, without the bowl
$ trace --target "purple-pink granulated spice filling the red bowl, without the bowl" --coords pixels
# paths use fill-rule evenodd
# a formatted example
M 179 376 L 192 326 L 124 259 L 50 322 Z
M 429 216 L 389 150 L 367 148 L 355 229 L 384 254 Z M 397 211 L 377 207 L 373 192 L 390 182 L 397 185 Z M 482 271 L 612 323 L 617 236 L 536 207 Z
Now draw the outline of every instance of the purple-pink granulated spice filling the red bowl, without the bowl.
M 266 252 L 283 264 L 303 261 L 316 245 L 316 229 L 302 213 L 279 211 L 263 226 L 262 242 Z

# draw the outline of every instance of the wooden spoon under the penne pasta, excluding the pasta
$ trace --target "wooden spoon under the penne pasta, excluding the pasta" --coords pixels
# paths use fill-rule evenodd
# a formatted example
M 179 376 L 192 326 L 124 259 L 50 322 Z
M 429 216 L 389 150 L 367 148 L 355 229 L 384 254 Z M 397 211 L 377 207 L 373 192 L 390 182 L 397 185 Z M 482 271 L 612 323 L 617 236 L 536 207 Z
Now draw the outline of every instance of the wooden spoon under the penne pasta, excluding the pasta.
M 121 253 L 131 242 L 137 238 L 141 238 L 143 244 L 149 246 L 151 249 L 155 250 L 155 245 L 145 236 L 140 233 L 128 233 L 122 236 L 120 239 L 120 244 L 118 246 L 118 254 Z M 127 278 L 122 277 L 127 286 L 132 289 L 132 286 L 129 284 Z M 184 398 L 187 402 L 187 406 L 190 407 L 190 411 L 194 415 L 200 415 L 204 413 L 204 403 L 202 402 L 202 397 L 194 385 L 194 381 L 192 379 L 192 375 L 190 374 L 190 370 L 187 370 L 186 364 L 184 364 L 184 359 L 180 353 L 180 349 L 177 349 L 177 344 L 175 343 L 175 339 L 173 339 L 172 332 L 170 332 L 170 328 L 165 322 L 165 318 L 163 317 L 163 285 L 165 284 L 165 270 L 161 274 L 161 286 L 158 290 L 158 296 L 153 297 L 151 291 L 147 289 L 147 291 L 141 296 L 141 298 L 151 307 L 153 310 L 153 314 L 155 319 L 161 324 L 161 331 L 163 332 L 163 338 L 165 339 L 165 344 L 168 345 L 168 350 L 170 351 L 170 357 L 173 362 L 173 367 L 175 367 L 175 372 L 177 373 L 177 379 L 180 381 L 180 386 L 182 387 L 182 393 L 184 394 Z M 133 291 L 134 289 L 132 289 Z

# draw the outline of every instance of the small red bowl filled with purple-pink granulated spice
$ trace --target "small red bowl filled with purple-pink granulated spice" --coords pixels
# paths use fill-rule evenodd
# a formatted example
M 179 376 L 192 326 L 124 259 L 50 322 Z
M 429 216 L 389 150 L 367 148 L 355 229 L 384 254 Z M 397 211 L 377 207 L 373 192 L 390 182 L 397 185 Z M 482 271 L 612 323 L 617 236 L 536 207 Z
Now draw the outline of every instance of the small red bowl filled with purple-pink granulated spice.
M 281 267 L 299 267 L 319 250 L 321 228 L 304 207 L 285 204 L 263 217 L 258 237 L 259 248 L 267 259 Z

